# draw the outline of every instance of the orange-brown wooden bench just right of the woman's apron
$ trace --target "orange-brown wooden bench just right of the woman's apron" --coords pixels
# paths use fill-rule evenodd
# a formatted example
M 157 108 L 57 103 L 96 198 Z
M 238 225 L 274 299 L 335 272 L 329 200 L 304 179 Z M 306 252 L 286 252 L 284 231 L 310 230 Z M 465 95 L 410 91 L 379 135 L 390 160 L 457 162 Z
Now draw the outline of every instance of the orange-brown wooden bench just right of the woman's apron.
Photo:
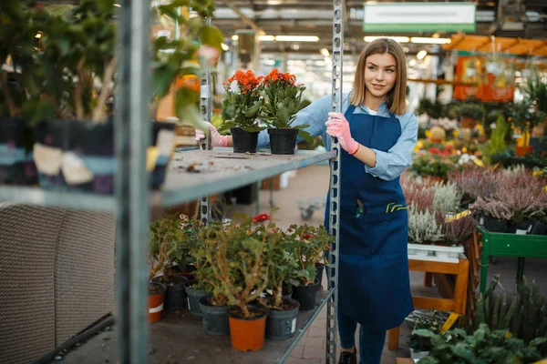
M 408 259 L 408 269 L 426 272 L 426 278 L 424 281 L 426 287 L 431 287 L 433 273 L 456 275 L 453 298 L 448 299 L 413 296 L 412 303 L 414 303 L 414 308 L 435 308 L 442 311 L 457 312 L 461 315 L 465 315 L 470 269 L 470 262 L 467 258 L 459 258 L 458 263 Z M 400 328 L 390 329 L 387 334 L 387 347 L 390 350 L 395 350 L 398 348 L 399 331 Z

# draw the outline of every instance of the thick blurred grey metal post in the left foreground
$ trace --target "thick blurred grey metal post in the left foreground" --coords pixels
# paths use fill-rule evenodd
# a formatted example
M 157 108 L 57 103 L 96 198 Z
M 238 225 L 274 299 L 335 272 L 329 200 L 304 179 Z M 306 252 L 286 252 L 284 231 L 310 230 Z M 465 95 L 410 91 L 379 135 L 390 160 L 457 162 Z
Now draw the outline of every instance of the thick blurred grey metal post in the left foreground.
M 148 120 L 150 2 L 123 0 L 119 9 L 119 93 L 115 116 L 117 198 L 117 323 L 119 362 L 145 363 L 148 349 L 148 265 L 150 224 L 146 150 Z

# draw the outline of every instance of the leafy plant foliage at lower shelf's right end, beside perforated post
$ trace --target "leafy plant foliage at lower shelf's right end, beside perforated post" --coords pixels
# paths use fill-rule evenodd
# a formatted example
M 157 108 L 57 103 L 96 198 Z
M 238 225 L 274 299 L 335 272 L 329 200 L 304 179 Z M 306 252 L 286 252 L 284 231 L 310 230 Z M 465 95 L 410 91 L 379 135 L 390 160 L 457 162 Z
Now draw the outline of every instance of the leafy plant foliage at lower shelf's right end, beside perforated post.
M 331 249 L 333 237 L 325 227 L 309 225 L 292 225 L 287 232 L 290 240 L 288 248 L 296 258 L 298 271 L 291 280 L 294 286 L 312 285 L 315 283 L 315 266 L 324 258 L 325 250 Z

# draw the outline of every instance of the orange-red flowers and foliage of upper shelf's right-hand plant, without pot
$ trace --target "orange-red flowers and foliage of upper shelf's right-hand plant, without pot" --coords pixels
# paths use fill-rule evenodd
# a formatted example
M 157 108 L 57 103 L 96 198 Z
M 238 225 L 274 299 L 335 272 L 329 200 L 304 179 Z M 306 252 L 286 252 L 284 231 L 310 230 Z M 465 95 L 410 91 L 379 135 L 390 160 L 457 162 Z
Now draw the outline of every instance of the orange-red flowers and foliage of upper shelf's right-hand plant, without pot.
M 304 90 L 304 84 L 296 84 L 296 76 L 274 68 L 263 78 L 260 86 L 263 97 L 261 117 L 272 128 L 299 129 L 298 134 L 311 142 L 311 136 L 303 130 L 309 125 L 293 126 Z

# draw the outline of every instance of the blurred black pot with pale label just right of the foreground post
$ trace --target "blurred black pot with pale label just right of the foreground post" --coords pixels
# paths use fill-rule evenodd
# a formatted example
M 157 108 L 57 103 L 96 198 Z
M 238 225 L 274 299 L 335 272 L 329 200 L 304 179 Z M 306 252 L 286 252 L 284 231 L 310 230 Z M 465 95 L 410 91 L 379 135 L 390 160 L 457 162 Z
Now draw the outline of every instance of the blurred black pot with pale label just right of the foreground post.
M 155 121 L 152 123 L 151 142 L 160 151 L 160 156 L 156 160 L 156 167 L 150 174 L 152 189 L 160 189 L 165 181 L 170 155 L 174 146 L 175 126 L 175 123 L 168 122 Z

